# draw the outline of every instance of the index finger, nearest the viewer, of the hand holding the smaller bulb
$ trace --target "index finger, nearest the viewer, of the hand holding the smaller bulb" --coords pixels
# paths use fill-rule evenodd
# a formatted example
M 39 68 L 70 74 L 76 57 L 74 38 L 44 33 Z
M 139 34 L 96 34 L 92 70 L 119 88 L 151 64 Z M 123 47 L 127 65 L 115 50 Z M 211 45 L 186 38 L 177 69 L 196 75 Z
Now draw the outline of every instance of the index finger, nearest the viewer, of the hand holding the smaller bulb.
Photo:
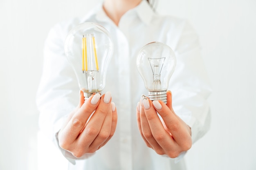
M 162 117 L 166 128 L 171 132 L 175 142 L 179 146 L 187 145 L 191 140 L 186 124 L 171 111 L 162 101 L 154 101 L 153 105 L 159 115 Z

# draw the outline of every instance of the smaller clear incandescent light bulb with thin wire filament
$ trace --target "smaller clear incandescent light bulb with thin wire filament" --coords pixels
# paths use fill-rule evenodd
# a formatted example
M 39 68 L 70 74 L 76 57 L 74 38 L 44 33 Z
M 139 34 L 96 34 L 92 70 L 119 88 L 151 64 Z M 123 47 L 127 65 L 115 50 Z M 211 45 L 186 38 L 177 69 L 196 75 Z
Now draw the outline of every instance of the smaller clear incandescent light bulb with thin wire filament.
M 141 48 L 136 64 L 149 99 L 162 100 L 166 104 L 166 92 L 176 66 L 173 50 L 161 42 L 151 42 Z

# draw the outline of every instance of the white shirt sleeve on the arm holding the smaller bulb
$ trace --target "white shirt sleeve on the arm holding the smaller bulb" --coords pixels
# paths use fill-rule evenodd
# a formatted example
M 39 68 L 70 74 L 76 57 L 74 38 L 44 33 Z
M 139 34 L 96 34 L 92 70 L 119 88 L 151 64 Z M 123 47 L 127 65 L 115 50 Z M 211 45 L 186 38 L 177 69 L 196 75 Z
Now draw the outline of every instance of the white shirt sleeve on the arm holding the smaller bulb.
M 191 127 L 192 142 L 200 139 L 210 127 L 211 93 L 207 71 L 200 52 L 198 35 L 184 22 L 174 48 L 176 68 L 171 77 L 173 109 Z

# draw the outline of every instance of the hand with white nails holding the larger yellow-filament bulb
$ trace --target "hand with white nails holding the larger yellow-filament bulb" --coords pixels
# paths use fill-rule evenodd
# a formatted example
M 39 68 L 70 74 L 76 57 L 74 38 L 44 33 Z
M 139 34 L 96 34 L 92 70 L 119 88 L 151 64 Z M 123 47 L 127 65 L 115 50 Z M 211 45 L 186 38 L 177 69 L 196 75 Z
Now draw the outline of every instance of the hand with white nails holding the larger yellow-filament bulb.
M 111 102 L 110 92 L 102 97 L 92 95 L 84 102 L 83 92 L 80 91 L 79 105 L 58 132 L 59 146 L 75 157 L 82 157 L 104 146 L 114 135 L 116 126 L 117 110 Z

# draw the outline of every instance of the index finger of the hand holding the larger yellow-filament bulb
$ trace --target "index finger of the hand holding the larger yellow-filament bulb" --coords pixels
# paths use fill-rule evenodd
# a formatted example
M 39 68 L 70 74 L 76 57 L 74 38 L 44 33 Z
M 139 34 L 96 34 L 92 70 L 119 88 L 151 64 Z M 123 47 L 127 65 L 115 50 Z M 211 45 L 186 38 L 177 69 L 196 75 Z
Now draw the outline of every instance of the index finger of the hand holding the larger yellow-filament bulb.
M 61 134 L 59 135 L 60 141 L 63 141 L 65 145 L 69 145 L 74 142 L 74 140 L 79 136 L 81 130 L 84 128 L 90 115 L 94 112 L 99 104 L 100 95 L 92 95 L 89 99 L 83 103 L 81 108 L 79 108 L 73 117 L 68 122 L 67 126 L 63 128 Z M 96 103 L 96 104 L 95 104 Z

